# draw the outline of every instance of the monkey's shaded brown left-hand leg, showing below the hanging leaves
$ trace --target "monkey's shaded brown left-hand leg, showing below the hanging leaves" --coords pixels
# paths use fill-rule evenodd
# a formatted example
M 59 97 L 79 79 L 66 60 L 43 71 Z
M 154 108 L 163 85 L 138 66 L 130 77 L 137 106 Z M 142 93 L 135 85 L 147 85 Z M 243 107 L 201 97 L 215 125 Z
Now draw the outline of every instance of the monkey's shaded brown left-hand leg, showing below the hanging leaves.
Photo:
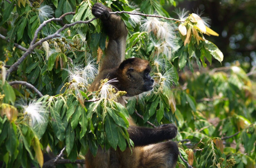
M 90 151 L 85 156 L 86 168 L 109 168 L 109 150 L 105 151 L 100 146 L 94 157 Z

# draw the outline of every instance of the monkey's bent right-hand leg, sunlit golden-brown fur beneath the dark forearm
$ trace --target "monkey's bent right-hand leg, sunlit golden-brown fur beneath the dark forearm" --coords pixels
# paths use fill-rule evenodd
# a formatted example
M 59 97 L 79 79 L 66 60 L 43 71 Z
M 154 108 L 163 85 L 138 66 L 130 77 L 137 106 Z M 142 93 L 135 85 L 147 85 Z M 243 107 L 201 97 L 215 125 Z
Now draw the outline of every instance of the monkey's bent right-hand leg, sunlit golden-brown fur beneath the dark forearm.
M 174 168 L 178 153 L 178 146 L 173 141 L 143 146 L 138 168 Z

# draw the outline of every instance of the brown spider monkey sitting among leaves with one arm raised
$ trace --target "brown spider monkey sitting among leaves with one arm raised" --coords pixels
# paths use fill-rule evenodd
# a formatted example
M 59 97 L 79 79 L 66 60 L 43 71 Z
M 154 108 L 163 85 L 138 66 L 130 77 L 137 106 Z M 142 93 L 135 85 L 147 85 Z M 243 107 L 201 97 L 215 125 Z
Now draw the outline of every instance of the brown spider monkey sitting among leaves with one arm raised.
M 103 22 L 103 30 L 109 37 L 105 57 L 99 74 L 88 91 L 97 91 L 100 80 L 117 79 L 111 83 L 119 91 L 126 91 L 125 96 L 135 96 L 153 89 L 154 80 L 149 75 L 147 60 L 129 58 L 124 60 L 126 37 L 128 31 L 121 17 L 110 14 L 111 10 L 101 3 L 92 7 L 92 14 Z M 86 168 L 174 168 L 178 157 L 178 147 L 173 141 L 177 128 L 174 124 L 164 124 L 157 128 L 136 126 L 129 119 L 127 129 L 134 142 L 132 152 L 110 148 L 108 151 L 98 148 L 94 157 L 90 151 L 86 154 Z

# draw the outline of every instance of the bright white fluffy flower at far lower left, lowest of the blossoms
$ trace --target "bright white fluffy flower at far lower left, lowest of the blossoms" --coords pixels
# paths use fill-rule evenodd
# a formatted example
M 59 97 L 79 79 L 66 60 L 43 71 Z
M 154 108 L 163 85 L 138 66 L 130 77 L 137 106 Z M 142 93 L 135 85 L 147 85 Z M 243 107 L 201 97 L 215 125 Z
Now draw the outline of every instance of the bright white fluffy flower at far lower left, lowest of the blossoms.
M 23 105 L 20 104 L 19 106 L 23 108 L 24 119 L 29 121 L 31 126 L 45 122 L 44 114 L 47 111 L 42 102 L 33 100 L 30 101 L 29 105 L 23 103 Z

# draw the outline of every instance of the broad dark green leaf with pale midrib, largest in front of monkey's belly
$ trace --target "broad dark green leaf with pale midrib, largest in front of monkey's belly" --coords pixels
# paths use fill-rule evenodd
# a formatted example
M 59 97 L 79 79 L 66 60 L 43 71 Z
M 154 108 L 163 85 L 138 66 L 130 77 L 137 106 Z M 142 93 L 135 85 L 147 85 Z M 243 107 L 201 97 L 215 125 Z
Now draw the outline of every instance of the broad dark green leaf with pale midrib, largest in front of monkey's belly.
M 116 149 L 117 144 L 118 144 L 118 130 L 116 128 L 116 125 L 115 125 L 113 119 L 109 115 L 106 116 L 105 132 L 106 132 L 109 144 L 114 149 Z

